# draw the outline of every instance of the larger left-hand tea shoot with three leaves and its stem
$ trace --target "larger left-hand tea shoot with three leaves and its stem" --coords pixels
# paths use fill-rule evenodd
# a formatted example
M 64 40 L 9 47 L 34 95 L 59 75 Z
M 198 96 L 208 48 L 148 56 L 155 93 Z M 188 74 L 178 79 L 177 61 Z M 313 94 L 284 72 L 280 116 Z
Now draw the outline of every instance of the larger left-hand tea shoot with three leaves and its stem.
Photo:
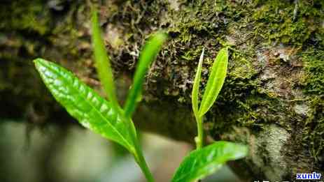
M 122 109 L 119 105 L 115 93 L 113 70 L 109 56 L 106 53 L 104 40 L 101 38 L 97 10 L 92 10 L 92 43 L 97 73 L 108 100 L 101 98 L 69 70 L 44 59 L 34 60 L 43 82 L 66 111 L 85 128 L 89 128 L 106 139 L 111 139 L 124 146 L 132 153 L 149 182 L 154 181 L 153 175 L 143 157 L 131 117 L 136 109 L 136 98 L 141 95 L 145 74 L 158 52 L 160 52 L 165 40 L 167 40 L 167 35 L 158 32 L 151 36 L 148 43 L 144 45 L 125 109 Z

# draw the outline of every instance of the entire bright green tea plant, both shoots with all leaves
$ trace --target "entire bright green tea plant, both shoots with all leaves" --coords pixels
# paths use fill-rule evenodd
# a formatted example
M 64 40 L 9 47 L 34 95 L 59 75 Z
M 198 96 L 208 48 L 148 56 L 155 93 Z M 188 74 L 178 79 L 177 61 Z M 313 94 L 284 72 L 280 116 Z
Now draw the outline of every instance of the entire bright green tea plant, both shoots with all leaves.
M 93 10 L 92 13 L 92 44 L 97 73 L 108 100 L 101 98 L 99 94 L 81 82 L 69 70 L 44 59 L 34 60 L 43 82 L 66 111 L 85 128 L 89 128 L 106 139 L 111 139 L 113 142 L 124 146 L 134 156 L 136 163 L 149 182 L 153 182 L 154 179 L 143 157 L 139 137 L 132 122 L 132 114 L 141 96 L 145 74 L 166 40 L 167 35 L 158 32 L 151 36 L 144 45 L 124 107 L 118 103 L 111 61 L 106 54 L 104 41 L 101 38 L 96 10 Z M 198 92 L 203 56 L 204 50 L 199 59 L 195 84 L 192 89 L 192 109 L 198 128 L 197 149 L 192 151 L 182 162 L 172 179 L 174 182 L 202 179 L 219 169 L 227 160 L 235 160 L 246 155 L 245 146 L 230 142 L 220 141 L 202 147 L 204 136 L 203 117 L 215 102 L 223 86 L 227 69 L 227 50 L 220 50 L 216 62 L 213 63 L 211 76 L 199 106 Z

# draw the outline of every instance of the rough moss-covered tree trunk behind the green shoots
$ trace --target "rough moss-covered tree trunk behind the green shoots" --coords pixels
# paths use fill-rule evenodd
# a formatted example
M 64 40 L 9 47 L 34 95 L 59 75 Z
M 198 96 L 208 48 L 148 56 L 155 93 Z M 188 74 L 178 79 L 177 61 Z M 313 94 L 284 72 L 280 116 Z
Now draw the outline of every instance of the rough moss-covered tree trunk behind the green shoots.
M 169 33 L 134 119 L 141 128 L 192 142 L 190 92 L 199 54 L 206 47 L 206 84 L 213 58 L 227 45 L 229 73 L 205 120 L 209 141 L 248 144 L 249 156 L 232 165 L 249 181 L 323 174 L 323 1 L 99 4 L 120 98 L 125 98 L 148 35 L 158 29 Z M 36 74 L 31 60 L 38 56 L 57 61 L 102 93 L 92 62 L 89 13 L 89 2 L 81 0 L 1 1 L 1 118 L 38 124 L 70 120 Z

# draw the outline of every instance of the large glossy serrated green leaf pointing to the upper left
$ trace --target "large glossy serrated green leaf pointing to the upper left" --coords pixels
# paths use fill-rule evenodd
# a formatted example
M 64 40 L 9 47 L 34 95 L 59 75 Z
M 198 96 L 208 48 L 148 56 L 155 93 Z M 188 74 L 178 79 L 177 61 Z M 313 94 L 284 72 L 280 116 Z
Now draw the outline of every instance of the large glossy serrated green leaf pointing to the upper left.
M 134 153 L 134 144 L 120 117 L 113 119 L 111 103 L 68 70 L 50 61 L 34 60 L 43 82 L 55 99 L 85 128 L 125 146 Z

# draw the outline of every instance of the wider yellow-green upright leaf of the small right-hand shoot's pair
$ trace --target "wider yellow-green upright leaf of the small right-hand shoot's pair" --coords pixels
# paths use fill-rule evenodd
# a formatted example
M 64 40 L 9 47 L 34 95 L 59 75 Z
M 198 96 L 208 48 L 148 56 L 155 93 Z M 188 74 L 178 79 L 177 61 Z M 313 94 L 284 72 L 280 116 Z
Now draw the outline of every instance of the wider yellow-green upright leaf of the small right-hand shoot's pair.
M 202 96 L 202 103 L 199 107 L 199 115 L 204 116 L 206 112 L 211 108 L 213 103 L 222 89 L 226 73 L 227 73 L 228 53 L 227 48 L 223 48 L 218 52 L 216 60 L 213 62 L 211 68 L 211 75 L 207 81 L 206 90 L 204 96 Z

